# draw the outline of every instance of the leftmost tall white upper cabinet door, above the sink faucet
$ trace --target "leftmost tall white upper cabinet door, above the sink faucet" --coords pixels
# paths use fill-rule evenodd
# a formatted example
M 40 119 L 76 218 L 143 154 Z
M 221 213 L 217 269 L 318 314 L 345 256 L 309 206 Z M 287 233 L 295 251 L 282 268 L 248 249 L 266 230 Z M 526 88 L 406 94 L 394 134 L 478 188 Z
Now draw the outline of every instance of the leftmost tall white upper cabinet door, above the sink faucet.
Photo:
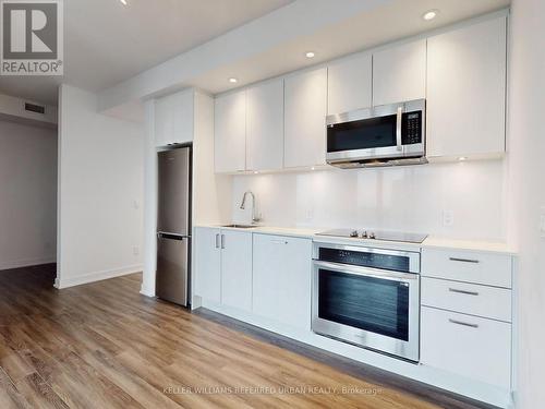
M 214 149 L 216 172 L 235 172 L 246 169 L 245 91 L 216 98 Z

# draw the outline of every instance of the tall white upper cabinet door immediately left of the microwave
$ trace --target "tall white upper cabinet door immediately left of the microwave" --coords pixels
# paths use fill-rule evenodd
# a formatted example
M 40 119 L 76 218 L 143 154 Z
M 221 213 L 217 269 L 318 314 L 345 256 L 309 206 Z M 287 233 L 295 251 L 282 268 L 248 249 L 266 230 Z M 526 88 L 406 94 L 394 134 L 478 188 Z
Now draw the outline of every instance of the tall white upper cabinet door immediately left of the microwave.
M 326 69 L 288 76 L 284 87 L 284 167 L 325 164 Z

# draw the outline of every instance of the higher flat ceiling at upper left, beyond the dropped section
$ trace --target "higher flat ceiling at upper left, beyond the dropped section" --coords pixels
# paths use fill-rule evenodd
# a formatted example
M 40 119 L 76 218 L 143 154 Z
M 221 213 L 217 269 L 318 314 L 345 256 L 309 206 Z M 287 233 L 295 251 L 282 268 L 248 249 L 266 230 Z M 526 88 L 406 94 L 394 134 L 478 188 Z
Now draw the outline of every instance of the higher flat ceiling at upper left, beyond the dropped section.
M 0 93 L 56 104 L 64 82 L 98 92 L 293 0 L 64 1 L 64 77 L 0 77 Z

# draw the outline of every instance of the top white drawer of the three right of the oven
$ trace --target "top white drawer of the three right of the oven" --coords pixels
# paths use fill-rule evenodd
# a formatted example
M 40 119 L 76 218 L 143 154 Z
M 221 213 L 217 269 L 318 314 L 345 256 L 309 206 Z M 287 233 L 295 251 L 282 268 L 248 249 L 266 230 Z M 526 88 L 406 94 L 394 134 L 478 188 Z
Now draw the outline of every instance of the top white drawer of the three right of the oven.
M 473 251 L 422 249 L 422 275 L 511 288 L 511 256 Z

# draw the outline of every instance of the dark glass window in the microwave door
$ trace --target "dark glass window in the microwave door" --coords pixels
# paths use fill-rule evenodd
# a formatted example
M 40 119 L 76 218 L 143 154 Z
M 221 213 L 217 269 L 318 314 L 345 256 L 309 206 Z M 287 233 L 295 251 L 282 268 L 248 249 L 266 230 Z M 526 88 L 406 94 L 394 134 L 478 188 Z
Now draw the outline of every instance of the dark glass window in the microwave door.
M 396 146 L 395 115 L 335 124 L 327 128 L 327 152 Z

